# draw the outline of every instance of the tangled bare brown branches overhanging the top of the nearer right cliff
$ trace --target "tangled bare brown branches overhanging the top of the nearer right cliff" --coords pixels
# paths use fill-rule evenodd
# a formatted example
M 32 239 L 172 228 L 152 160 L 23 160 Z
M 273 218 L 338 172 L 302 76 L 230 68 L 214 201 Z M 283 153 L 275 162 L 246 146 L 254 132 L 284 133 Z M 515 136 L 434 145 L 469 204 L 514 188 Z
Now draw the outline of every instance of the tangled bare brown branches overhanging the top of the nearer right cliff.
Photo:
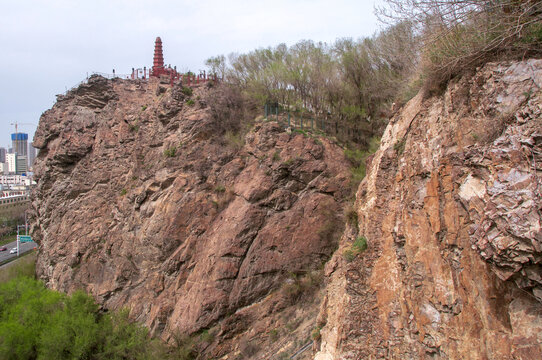
M 385 23 L 415 24 L 425 72 L 436 83 L 487 61 L 542 53 L 540 0 L 386 0 L 377 14 Z

